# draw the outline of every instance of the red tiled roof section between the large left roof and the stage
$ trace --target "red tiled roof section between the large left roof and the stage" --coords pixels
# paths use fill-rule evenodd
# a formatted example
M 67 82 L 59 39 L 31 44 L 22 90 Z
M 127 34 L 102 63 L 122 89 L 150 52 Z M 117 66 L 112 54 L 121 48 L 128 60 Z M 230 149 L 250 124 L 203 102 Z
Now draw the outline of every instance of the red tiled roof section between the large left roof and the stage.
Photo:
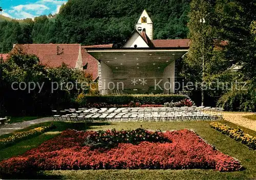
M 111 48 L 113 44 L 102 44 L 102 45 L 87 45 L 82 46 L 82 64 L 87 65 L 87 69 L 84 72 L 92 74 L 93 80 L 98 78 L 98 60 L 86 52 L 86 48 Z

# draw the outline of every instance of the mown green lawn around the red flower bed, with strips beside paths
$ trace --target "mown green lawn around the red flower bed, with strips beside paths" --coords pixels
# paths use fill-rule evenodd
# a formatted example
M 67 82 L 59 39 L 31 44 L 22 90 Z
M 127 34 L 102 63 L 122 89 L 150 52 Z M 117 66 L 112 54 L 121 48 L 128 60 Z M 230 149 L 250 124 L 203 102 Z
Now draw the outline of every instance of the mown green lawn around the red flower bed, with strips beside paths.
M 231 127 L 237 127 L 227 121 L 224 122 Z M 33 125 L 46 125 L 47 123 Z M 209 121 L 190 122 L 113 122 L 113 123 L 91 123 L 86 126 L 84 123 L 55 122 L 57 128 L 51 132 L 38 137 L 17 143 L 11 147 L 0 150 L 0 160 L 21 155 L 25 151 L 34 148 L 42 142 L 57 136 L 67 128 L 76 130 L 106 130 L 116 128 L 117 130 L 134 129 L 142 125 L 150 130 L 181 130 L 190 128 L 196 131 L 203 139 L 216 146 L 227 155 L 237 158 L 242 162 L 245 170 L 236 172 L 219 172 L 215 170 L 191 169 L 191 170 L 58 170 L 42 171 L 36 177 L 42 179 L 255 179 L 256 178 L 256 151 L 250 150 L 241 142 L 235 141 L 226 135 L 214 130 L 209 126 Z M 242 127 L 244 132 L 256 136 L 256 132 Z M 27 177 L 28 178 L 28 177 Z

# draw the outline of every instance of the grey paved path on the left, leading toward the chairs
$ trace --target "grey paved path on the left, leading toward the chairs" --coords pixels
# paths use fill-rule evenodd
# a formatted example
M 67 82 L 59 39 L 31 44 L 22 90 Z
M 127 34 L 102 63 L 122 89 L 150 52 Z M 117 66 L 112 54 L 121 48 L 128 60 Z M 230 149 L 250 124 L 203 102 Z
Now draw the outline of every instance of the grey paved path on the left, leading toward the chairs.
M 44 117 L 44 118 L 35 119 L 35 120 L 31 120 L 31 121 L 17 122 L 17 123 L 12 123 L 12 124 L 5 124 L 5 125 L 0 124 L 0 136 L 3 134 L 13 133 L 14 131 L 26 128 L 33 124 L 38 124 L 41 122 L 48 122 L 48 121 L 53 121 L 53 118 L 52 117 Z

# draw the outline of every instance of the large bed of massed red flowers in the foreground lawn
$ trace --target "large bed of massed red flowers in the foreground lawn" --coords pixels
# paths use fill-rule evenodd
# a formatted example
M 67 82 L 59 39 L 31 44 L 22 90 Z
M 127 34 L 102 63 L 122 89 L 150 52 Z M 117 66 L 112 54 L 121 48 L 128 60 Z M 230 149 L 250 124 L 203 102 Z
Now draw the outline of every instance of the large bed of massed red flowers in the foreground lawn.
M 96 132 L 67 130 L 24 155 L 0 162 L 0 174 L 78 169 L 216 169 L 235 171 L 238 160 L 216 150 L 189 130 L 163 133 L 169 142 L 119 143 L 110 149 L 84 145 Z

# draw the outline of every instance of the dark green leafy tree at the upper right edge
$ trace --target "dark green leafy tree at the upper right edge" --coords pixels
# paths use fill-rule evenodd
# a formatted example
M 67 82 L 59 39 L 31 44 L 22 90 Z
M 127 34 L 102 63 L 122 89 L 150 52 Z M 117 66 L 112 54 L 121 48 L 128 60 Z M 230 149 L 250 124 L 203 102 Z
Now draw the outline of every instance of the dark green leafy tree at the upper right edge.
M 220 0 L 218 14 L 221 16 L 220 36 L 228 41 L 226 57 L 233 64 L 241 65 L 245 79 L 255 77 L 255 41 L 253 20 L 256 19 L 255 1 Z

